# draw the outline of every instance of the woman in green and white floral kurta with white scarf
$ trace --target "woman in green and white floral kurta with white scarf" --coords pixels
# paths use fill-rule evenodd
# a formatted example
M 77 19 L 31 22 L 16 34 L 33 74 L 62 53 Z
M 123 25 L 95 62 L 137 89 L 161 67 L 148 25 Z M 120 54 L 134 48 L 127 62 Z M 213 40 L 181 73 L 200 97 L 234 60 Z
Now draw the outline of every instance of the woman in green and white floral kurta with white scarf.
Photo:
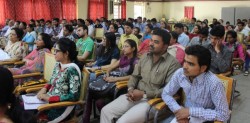
M 77 101 L 80 96 L 82 66 L 76 65 L 77 51 L 73 41 L 61 38 L 56 43 L 55 59 L 57 61 L 50 81 L 42 88 L 37 97 L 49 103 Z M 43 118 L 49 121 L 60 116 L 65 107 L 46 111 Z M 73 113 L 72 113 L 73 114 Z

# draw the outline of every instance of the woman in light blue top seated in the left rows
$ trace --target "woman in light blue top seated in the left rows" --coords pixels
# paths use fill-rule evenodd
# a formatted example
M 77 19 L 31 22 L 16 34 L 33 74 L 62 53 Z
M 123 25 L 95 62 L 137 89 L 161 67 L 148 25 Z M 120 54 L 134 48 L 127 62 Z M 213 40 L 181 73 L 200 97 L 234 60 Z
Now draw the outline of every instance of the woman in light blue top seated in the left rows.
M 29 45 L 29 52 L 32 52 L 36 40 L 36 32 L 34 31 L 34 26 L 32 24 L 27 25 L 27 33 L 22 40 Z

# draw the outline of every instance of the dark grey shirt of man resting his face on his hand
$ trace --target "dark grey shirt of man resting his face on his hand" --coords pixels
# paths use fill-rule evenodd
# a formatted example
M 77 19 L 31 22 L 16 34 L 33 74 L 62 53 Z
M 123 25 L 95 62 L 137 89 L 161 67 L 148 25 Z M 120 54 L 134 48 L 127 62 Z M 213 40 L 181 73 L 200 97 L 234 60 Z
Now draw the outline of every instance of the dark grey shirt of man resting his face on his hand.
M 221 46 L 221 51 L 217 53 L 213 45 L 207 47 L 211 52 L 211 66 L 210 71 L 215 74 L 225 73 L 230 70 L 232 62 L 232 52 L 224 45 Z

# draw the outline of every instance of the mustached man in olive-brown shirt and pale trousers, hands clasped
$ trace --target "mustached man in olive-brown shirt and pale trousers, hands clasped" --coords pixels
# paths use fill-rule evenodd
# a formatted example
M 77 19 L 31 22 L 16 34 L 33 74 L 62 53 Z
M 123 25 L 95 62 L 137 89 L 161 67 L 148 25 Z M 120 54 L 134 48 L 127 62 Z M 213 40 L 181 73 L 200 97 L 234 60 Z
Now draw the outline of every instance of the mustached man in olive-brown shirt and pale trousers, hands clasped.
M 128 82 L 128 93 L 106 105 L 101 111 L 101 123 L 145 122 L 150 107 L 149 99 L 160 97 L 164 85 L 180 67 L 178 61 L 167 52 L 170 34 L 162 29 L 154 30 L 150 53 L 145 54 L 136 65 Z

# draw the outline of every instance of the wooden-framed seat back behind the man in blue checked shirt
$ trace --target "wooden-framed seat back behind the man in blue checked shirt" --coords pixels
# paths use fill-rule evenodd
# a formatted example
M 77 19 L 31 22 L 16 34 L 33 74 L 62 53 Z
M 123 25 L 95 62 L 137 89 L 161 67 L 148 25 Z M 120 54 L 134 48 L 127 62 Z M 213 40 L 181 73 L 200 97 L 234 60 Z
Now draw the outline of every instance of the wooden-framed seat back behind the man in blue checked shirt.
M 229 109 L 232 110 L 236 80 L 231 77 L 223 76 L 221 74 L 217 75 L 217 77 L 221 80 L 222 84 L 224 85 L 228 106 Z

